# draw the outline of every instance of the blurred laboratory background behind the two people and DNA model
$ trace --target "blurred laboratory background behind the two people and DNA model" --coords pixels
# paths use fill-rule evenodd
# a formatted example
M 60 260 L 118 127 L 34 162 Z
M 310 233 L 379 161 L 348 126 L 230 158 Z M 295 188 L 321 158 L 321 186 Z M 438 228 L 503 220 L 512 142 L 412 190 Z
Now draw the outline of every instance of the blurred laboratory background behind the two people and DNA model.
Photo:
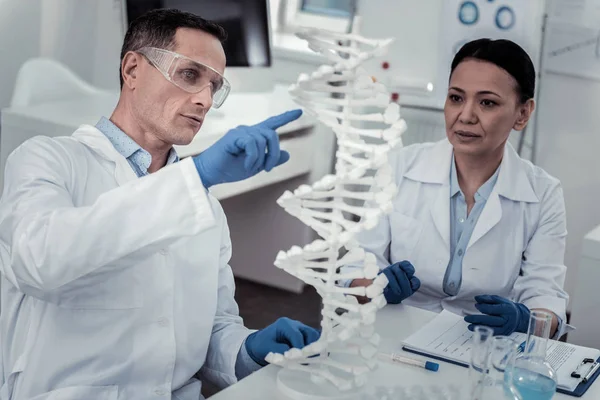
M 536 109 L 509 141 L 562 185 L 567 319 L 576 327 L 562 340 L 600 348 L 600 1 L 0 0 L 0 185 L 8 156 L 27 139 L 70 135 L 110 115 L 127 26 L 155 8 L 196 13 L 229 34 L 231 93 L 208 112 L 191 144 L 176 146 L 181 157 L 201 153 L 232 127 L 298 107 L 289 86 L 325 63 L 298 30 L 347 33 L 358 25 L 365 37 L 394 39 L 363 67 L 400 105 L 404 146 L 445 137 L 450 64 L 463 44 L 489 37 L 521 45 L 536 68 Z M 335 135 L 305 113 L 280 131 L 280 141 L 291 154 L 288 163 L 211 192 L 229 224 L 245 325 L 261 329 L 287 316 L 318 328 L 319 294 L 274 266 L 279 251 L 304 246 L 316 233 L 277 200 L 333 172 Z M 217 392 L 205 383 L 205 396 Z

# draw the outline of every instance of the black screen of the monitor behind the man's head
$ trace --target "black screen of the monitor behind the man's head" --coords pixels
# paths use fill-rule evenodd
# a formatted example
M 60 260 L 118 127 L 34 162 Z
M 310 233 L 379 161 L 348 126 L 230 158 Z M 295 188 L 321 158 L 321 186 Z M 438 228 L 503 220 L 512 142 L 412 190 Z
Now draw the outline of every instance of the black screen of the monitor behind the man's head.
M 221 25 L 228 67 L 271 65 L 268 0 L 126 0 L 128 23 L 157 8 L 191 12 Z

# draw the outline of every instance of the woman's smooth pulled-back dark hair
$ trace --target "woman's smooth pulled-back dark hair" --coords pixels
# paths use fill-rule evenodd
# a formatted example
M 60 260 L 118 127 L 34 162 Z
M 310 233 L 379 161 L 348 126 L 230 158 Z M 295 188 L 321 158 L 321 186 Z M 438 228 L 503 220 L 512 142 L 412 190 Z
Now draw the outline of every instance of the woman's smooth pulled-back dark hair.
M 510 40 L 477 39 L 466 43 L 454 56 L 450 76 L 461 62 L 476 59 L 491 62 L 508 72 L 517 81 L 521 103 L 532 99 L 535 93 L 535 67 L 521 46 Z

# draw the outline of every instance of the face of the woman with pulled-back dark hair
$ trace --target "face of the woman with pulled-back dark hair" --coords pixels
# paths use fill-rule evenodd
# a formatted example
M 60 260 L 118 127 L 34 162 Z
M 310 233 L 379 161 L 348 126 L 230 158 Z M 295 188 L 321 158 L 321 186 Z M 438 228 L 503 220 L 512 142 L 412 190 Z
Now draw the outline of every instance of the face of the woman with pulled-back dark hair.
M 525 128 L 533 109 L 533 100 L 519 101 L 517 81 L 504 69 L 466 59 L 450 77 L 446 135 L 456 154 L 494 157 L 504 152 L 512 129 Z

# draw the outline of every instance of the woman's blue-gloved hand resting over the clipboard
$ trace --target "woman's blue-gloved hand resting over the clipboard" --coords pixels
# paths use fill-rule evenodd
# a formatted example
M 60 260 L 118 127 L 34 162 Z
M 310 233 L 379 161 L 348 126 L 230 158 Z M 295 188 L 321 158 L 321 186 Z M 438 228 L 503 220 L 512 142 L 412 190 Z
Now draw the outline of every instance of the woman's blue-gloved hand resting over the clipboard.
M 527 333 L 529 327 L 529 309 L 504 297 L 475 296 L 475 308 L 484 315 L 467 315 L 465 321 L 470 323 L 469 330 L 477 325 L 486 325 L 494 329 L 494 335 L 510 335 L 513 332 Z

